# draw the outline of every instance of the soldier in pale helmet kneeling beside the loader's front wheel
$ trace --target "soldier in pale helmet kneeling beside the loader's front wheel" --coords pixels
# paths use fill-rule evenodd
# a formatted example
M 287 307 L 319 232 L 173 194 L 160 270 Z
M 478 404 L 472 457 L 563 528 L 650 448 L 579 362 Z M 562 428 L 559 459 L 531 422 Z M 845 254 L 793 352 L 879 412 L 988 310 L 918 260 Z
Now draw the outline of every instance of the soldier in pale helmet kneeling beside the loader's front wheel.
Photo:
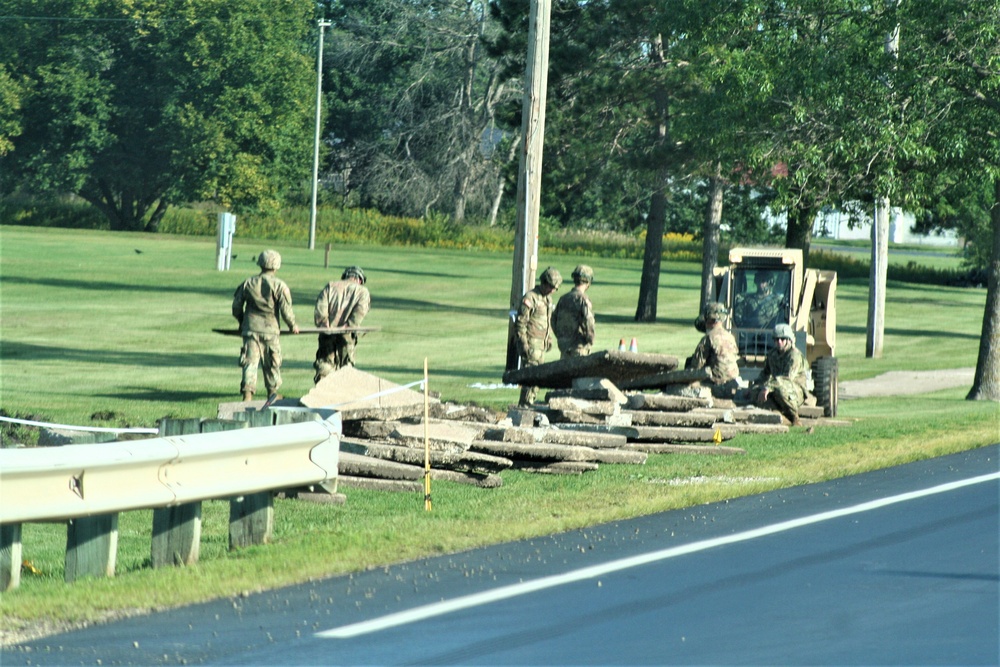
M 799 406 L 806 398 L 806 371 L 809 364 L 795 347 L 792 327 L 774 327 L 774 347 L 764 360 L 760 376 L 750 388 L 759 407 L 777 408 L 793 426 L 799 425 Z

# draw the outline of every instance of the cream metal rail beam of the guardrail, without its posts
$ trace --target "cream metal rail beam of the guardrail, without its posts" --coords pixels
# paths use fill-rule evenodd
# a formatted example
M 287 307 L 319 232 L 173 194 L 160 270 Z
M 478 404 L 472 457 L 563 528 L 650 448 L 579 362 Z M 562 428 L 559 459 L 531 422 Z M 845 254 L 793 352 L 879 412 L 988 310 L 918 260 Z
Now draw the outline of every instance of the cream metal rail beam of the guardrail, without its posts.
M 326 421 L 93 445 L 0 450 L 0 524 L 60 521 L 337 477 Z

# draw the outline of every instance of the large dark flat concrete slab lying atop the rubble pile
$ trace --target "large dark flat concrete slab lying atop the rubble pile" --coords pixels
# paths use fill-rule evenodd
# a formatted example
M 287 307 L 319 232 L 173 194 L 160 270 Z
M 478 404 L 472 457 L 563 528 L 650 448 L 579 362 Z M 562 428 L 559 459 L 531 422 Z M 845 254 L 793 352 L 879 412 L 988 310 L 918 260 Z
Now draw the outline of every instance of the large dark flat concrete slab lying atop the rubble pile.
M 677 368 L 677 357 L 669 354 L 647 354 L 627 350 L 602 350 L 582 357 L 567 357 L 537 366 L 507 371 L 507 384 L 533 385 L 549 389 L 566 389 L 576 378 L 604 378 L 622 388 L 622 382 L 664 373 Z

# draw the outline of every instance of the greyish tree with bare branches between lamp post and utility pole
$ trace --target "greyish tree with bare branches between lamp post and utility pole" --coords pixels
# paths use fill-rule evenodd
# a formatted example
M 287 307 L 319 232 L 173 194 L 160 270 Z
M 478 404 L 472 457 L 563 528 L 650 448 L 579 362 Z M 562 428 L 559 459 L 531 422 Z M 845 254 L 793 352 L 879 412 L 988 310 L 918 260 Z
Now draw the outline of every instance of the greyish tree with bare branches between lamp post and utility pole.
M 400 215 L 489 215 L 509 159 L 497 108 L 519 88 L 484 47 L 495 29 L 487 9 L 477 0 L 335 3 L 326 142 L 343 194 Z

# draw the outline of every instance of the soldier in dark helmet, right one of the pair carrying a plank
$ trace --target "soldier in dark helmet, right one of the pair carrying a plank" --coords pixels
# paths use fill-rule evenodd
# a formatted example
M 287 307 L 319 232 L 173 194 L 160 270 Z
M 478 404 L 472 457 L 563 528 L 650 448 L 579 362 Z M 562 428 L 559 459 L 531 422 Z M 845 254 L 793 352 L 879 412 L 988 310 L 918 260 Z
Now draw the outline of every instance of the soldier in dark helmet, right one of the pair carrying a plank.
M 327 283 L 316 298 L 313 321 L 317 327 L 357 327 L 371 308 L 371 294 L 360 266 L 344 269 L 340 280 Z M 338 368 L 354 365 L 358 334 L 320 334 L 313 368 L 313 382 L 319 382 Z

